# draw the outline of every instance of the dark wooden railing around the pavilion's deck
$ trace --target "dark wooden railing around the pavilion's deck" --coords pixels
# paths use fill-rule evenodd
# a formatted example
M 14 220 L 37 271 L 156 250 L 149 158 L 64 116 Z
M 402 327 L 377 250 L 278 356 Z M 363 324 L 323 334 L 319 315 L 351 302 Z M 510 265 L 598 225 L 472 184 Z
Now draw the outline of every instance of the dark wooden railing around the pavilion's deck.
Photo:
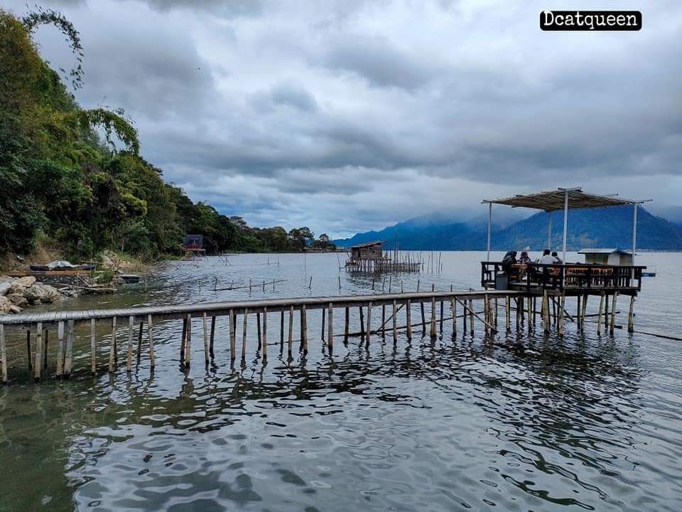
M 533 289 L 627 289 L 642 290 L 642 265 L 587 265 L 585 263 L 508 264 L 481 262 L 481 285 L 495 287 L 495 276 L 507 275 L 509 287 Z

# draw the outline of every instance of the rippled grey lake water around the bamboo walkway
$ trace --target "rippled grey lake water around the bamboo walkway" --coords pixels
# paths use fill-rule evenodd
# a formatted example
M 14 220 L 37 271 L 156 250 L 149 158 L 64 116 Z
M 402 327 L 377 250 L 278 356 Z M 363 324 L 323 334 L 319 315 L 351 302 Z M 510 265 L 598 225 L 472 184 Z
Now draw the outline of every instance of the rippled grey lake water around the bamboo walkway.
M 391 287 L 414 290 L 420 279 L 421 289 L 477 288 L 482 258 L 443 252 L 443 272 L 398 274 Z M 658 276 L 644 279 L 635 329 L 682 337 L 682 254 L 644 253 L 638 263 L 656 267 Z M 214 292 L 215 277 L 219 288 L 249 284 L 249 277 L 286 282 L 265 292 Z M 375 292 L 381 284 L 378 277 Z M 222 257 L 163 265 L 146 293 L 131 288 L 56 307 L 371 289 L 372 277 L 339 273 L 335 254 L 233 255 L 229 265 Z M 588 309 L 596 306 L 592 298 Z M 575 311 L 573 299 L 567 309 Z M 625 324 L 626 299 L 618 309 L 617 324 Z M 374 312 L 375 325 L 379 316 Z M 334 320 L 341 333 L 343 315 Z M 205 368 L 197 320 L 193 366 L 183 373 L 181 322 L 173 321 L 155 326 L 153 373 L 143 357 L 131 374 L 121 366 L 113 376 L 104 372 L 110 336 L 102 329 L 102 370 L 94 378 L 87 333 L 79 332 L 72 380 L 40 385 L 28 380 L 25 341 L 11 340 L 13 383 L 0 388 L 0 511 L 681 509 L 680 341 L 624 330 L 599 337 L 595 324 L 578 334 L 570 321 L 563 337 L 503 329 L 486 338 L 477 326 L 475 336 L 460 328 L 453 338 L 446 321 L 435 341 L 421 338 L 421 329 L 411 342 L 403 332 L 396 343 L 373 336 L 369 348 L 359 338 L 347 346 L 337 338 L 330 356 L 313 311 L 308 356 L 301 358 L 295 343 L 288 361 L 278 314 L 268 326 L 265 365 L 251 318 L 246 363 L 238 350 L 231 367 L 223 318 L 215 361 Z

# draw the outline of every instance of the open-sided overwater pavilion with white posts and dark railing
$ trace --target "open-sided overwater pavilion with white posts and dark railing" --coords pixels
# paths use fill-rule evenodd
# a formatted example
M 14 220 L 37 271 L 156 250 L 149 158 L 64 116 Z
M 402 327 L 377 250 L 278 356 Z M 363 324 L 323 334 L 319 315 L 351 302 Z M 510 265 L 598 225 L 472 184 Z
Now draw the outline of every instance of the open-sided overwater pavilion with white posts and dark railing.
M 482 262 L 481 284 L 485 288 L 502 286 L 496 277 L 503 272 L 509 289 L 524 290 L 528 293 L 582 296 L 587 294 L 627 294 L 637 295 L 641 289 L 642 270 L 646 267 L 634 265 L 637 250 L 637 208 L 649 200 L 632 200 L 617 195 L 599 196 L 585 193 L 582 188 L 557 188 L 556 191 L 543 191 L 532 194 L 517 194 L 507 198 L 482 201 L 488 205 L 487 260 Z M 547 247 L 551 248 L 552 212 L 563 210 L 563 264 L 507 265 L 490 262 L 490 242 L 492 228 L 492 206 L 507 205 L 512 208 L 534 208 L 548 213 Z M 566 262 L 566 235 L 568 232 L 568 210 L 579 208 L 601 208 L 605 206 L 633 206 L 632 223 L 632 264 L 597 265 Z

